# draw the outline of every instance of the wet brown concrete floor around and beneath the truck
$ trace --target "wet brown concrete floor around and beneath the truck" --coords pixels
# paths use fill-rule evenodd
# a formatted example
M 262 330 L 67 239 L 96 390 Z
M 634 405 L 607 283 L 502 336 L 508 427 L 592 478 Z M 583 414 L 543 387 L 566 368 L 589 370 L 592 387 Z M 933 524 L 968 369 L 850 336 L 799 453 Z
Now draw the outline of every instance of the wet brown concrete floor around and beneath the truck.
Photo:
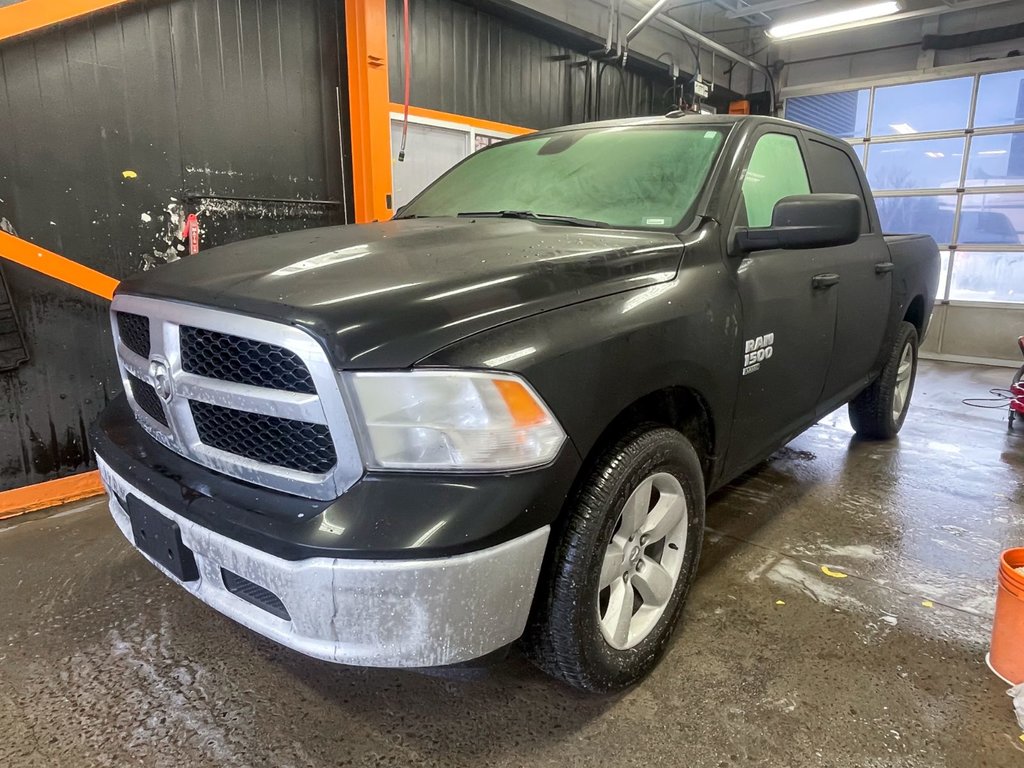
M 517 656 L 304 658 L 175 588 L 102 500 L 0 523 L 0 766 L 1020 766 L 983 657 L 1024 425 L 959 401 L 1010 375 L 923 364 L 898 441 L 844 410 L 717 494 L 684 624 L 615 697 Z

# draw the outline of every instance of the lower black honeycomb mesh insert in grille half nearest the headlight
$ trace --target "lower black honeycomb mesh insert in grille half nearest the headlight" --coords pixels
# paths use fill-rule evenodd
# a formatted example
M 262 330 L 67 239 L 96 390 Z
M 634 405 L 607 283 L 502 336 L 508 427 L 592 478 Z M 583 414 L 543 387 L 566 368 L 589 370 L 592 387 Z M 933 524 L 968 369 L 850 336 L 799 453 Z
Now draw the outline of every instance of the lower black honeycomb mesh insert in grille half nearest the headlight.
M 324 424 L 251 414 L 199 400 L 190 400 L 189 404 L 199 437 L 211 447 L 301 472 L 327 472 L 338 461 L 331 432 Z

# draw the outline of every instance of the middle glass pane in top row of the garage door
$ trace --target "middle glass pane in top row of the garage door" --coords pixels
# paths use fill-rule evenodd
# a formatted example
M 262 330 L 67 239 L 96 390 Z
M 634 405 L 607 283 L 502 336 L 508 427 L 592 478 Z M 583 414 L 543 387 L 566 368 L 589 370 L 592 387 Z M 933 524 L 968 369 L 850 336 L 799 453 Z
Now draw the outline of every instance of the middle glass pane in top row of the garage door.
M 967 128 L 974 78 L 931 80 L 874 90 L 871 135 Z

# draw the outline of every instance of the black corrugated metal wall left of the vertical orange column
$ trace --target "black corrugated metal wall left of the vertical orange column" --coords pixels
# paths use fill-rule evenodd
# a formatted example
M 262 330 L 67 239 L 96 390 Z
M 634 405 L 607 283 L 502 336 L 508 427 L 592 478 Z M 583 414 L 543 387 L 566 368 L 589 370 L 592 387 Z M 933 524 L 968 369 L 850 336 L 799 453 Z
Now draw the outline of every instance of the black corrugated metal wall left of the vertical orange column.
M 0 44 L 0 221 L 116 278 L 346 220 L 337 0 L 139 2 Z M 339 90 L 340 104 L 339 104 Z M 91 465 L 119 389 L 106 302 L 15 265 L 31 360 L 0 373 L 0 490 Z

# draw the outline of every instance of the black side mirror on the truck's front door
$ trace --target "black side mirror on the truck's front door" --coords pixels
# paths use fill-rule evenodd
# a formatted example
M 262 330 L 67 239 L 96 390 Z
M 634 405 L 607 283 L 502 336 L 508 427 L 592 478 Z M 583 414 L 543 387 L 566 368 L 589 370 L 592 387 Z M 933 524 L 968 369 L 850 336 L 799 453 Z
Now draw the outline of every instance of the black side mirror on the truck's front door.
M 856 195 L 793 195 L 775 204 L 771 226 L 735 229 L 729 251 L 738 255 L 849 245 L 860 237 L 860 214 Z

